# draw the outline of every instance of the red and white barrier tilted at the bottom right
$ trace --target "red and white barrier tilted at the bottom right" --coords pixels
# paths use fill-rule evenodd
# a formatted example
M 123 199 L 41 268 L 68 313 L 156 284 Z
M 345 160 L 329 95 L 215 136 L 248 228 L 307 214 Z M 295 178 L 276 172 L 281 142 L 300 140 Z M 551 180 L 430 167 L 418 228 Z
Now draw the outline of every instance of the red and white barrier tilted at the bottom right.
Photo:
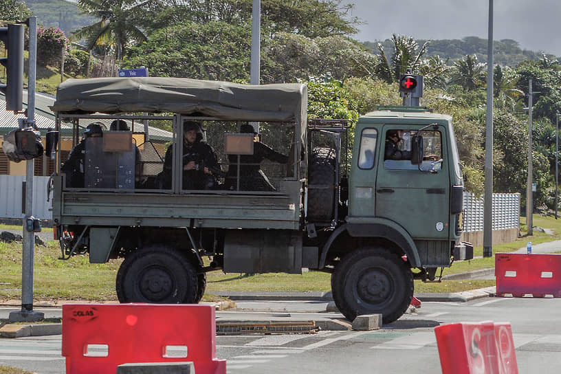
M 442 374 L 518 374 L 508 322 L 461 322 L 434 328 Z

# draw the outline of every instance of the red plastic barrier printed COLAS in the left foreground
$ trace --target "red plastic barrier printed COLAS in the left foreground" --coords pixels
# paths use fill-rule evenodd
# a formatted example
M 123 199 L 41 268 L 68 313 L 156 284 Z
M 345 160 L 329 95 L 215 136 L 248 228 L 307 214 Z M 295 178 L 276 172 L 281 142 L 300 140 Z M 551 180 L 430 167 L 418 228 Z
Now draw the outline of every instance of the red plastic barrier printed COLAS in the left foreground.
M 63 305 L 67 373 L 114 374 L 142 362 L 193 362 L 197 374 L 225 374 L 216 358 L 210 305 Z

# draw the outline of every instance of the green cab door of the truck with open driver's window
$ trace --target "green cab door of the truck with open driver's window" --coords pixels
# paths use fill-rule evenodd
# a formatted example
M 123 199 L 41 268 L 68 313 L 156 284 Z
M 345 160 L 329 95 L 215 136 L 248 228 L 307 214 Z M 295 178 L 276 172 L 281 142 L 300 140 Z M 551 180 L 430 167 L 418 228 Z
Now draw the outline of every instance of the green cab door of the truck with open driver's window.
M 410 151 L 421 127 L 383 127 L 380 137 L 385 144 L 380 142 L 378 150 L 375 215 L 399 223 L 415 239 L 446 239 L 451 223 L 445 127 L 419 133 L 423 137 L 423 161 L 416 165 L 410 160 Z M 396 140 L 400 153 L 388 155 L 388 142 Z

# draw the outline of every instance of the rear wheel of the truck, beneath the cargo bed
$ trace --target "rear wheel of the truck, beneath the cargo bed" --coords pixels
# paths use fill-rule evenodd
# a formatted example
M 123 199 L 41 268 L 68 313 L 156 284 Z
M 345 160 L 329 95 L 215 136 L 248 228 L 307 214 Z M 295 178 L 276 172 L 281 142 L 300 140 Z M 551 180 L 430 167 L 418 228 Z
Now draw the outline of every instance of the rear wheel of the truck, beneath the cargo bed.
M 197 270 L 179 250 L 153 246 L 126 256 L 117 272 L 120 303 L 197 302 Z

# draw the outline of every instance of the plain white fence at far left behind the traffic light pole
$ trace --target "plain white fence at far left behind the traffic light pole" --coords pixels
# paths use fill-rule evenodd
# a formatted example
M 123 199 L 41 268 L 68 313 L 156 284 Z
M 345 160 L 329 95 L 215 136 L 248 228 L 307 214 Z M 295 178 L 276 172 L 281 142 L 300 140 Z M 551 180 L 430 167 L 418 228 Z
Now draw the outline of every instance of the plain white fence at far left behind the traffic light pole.
M 0 175 L 0 218 L 23 218 L 21 211 L 22 182 L 25 175 Z M 47 202 L 49 177 L 33 177 L 33 217 L 52 219 L 51 201 Z

